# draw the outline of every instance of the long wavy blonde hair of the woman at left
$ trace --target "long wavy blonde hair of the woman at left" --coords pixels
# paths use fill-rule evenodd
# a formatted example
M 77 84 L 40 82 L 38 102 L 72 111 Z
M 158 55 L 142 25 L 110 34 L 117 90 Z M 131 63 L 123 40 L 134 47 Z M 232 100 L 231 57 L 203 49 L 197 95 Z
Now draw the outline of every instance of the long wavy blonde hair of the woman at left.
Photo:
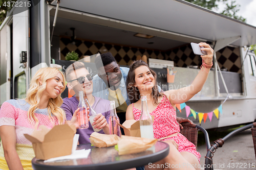
M 40 98 L 42 96 L 42 92 L 45 91 L 47 86 L 47 80 L 50 80 L 54 78 L 58 73 L 60 73 L 63 77 L 63 88 L 61 93 L 66 88 L 66 79 L 63 75 L 62 71 L 59 71 L 57 68 L 40 68 L 35 76 L 31 79 L 30 87 L 27 92 L 27 96 L 25 98 L 26 102 L 30 104 L 29 110 L 28 110 L 28 119 L 32 126 L 37 129 L 39 121 L 38 118 L 35 116 L 35 111 L 38 109 Z M 39 83 L 39 80 L 41 81 L 41 84 Z M 60 108 L 62 105 L 63 100 L 61 99 L 61 96 L 58 95 L 55 99 L 49 99 L 48 101 L 48 113 L 49 113 L 49 119 L 55 125 L 54 118 L 52 115 L 56 116 L 58 119 L 58 124 L 63 124 L 64 120 L 66 120 L 66 115 L 63 109 Z

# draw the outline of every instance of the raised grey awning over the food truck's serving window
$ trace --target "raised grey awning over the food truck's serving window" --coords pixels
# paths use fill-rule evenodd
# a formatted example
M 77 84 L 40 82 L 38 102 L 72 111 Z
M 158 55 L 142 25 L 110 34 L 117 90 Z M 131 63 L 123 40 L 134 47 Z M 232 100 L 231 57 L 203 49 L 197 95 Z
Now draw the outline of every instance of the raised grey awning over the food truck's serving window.
M 56 6 L 56 1 L 51 5 Z M 160 45 L 155 48 L 159 50 L 168 50 L 189 42 L 217 41 L 219 39 L 241 36 L 238 40 L 231 43 L 234 46 L 245 46 L 256 44 L 256 27 L 248 25 L 242 21 L 229 18 L 197 5 L 182 0 L 109 0 L 109 1 L 69 1 L 61 0 L 56 27 L 79 27 L 78 22 L 84 22 L 81 29 L 91 32 L 93 40 L 111 39 L 113 43 L 136 45 L 134 38 L 126 37 L 125 30 L 132 32 L 154 35 L 154 41 L 161 40 Z M 54 8 L 50 11 L 53 18 Z M 53 20 L 53 19 L 51 19 Z M 69 25 L 67 20 L 69 22 Z M 73 22 L 72 22 L 73 21 Z M 89 24 L 90 23 L 90 24 Z M 93 25 L 92 25 L 93 24 Z M 95 25 L 98 27 L 98 33 L 109 33 L 108 37 L 93 33 Z M 76 27 L 78 34 L 79 29 Z M 111 29 L 124 31 L 115 32 Z M 54 30 L 55 32 L 55 30 Z M 62 31 L 63 32 L 63 31 Z M 56 29 L 56 35 L 62 34 L 61 30 Z M 78 35 L 77 34 L 77 35 Z M 117 37 L 123 37 L 123 40 L 117 40 Z M 90 36 L 86 39 L 91 39 Z M 138 39 L 138 38 L 137 38 Z M 115 41 L 115 42 L 114 42 Z M 151 44 L 138 40 L 138 46 L 148 47 Z M 147 39 L 146 42 L 150 40 Z M 160 42 L 160 41 L 159 41 Z M 166 45 L 163 45 L 167 43 Z M 152 46 L 151 46 L 152 48 Z

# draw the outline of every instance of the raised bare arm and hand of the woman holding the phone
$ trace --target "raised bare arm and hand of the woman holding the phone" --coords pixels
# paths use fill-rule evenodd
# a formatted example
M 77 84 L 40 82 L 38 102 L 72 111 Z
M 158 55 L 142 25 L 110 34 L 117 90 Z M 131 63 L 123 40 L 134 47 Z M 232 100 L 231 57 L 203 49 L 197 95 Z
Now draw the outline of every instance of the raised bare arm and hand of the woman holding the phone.
M 200 46 L 204 46 L 204 48 L 201 48 L 202 51 L 206 51 L 207 55 L 201 56 L 204 63 L 207 65 L 212 64 L 212 58 L 214 55 L 214 50 L 210 47 L 209 44 L 205 42 L 200 42 Z M 184 88 L 180 89 L 174 89 L 174 90 L 168 90 L 165 91 L 165 94 L 167 98 L 169 99 L 171 104 L 180 104 L 187 102 L 189 99 L 191 99 L 195 94 L 197 94 L 201 89 L 203 88 L 204 83 L 207 80 L 208 74 L 209 74 L 210 68 L 205 68 L 204 66 L 199 71 L 197 77 L 193 81 L 193 83 Z

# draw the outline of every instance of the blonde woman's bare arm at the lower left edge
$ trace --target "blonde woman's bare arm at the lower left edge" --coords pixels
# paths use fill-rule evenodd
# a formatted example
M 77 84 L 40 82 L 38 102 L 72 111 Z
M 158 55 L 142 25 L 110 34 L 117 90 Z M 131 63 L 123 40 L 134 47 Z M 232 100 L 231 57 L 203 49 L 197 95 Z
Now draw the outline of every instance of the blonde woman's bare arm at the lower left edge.
M 16 152 L 16 133 L 14 126 L 3 125 L 0 127 L 0 136 L 3 143 L 5 159 L 10 170 L 23 169 L 22 163 Z

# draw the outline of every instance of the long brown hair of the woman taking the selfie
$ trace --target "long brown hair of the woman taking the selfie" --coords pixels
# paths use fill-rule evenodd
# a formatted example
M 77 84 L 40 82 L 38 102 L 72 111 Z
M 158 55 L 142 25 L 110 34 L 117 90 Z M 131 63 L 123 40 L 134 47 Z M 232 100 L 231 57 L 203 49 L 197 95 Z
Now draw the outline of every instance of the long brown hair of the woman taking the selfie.
M 130 70 L 128 72 L 127 80 L 126 80 L 126 85 L 127 85 L 126 90 L 127 90 L 128 98 L 130 99 L 131 103 L 135 103 L 140 99 L 139 89 L 137 87 L 135 87 L 134 84 L 135 84 L 135 69 L 142 65 L 144 65 L 148 69 L 150 69 L 151 74 L 154 76 L 155 84 L 154 84 L 154 87 L 152 88 L 151 94 L 152 94 L 154 103 L 158 104 L 159 103 L 158 98 L 160 96 L 163 96 L 164 94 L 159 93 L 159 91 L 158 91 L 157 74 L 153 69 L 148 67 L 148 65 L 142 60 L 135 61 L 134 63 L 132 63 L 130 65 Z

